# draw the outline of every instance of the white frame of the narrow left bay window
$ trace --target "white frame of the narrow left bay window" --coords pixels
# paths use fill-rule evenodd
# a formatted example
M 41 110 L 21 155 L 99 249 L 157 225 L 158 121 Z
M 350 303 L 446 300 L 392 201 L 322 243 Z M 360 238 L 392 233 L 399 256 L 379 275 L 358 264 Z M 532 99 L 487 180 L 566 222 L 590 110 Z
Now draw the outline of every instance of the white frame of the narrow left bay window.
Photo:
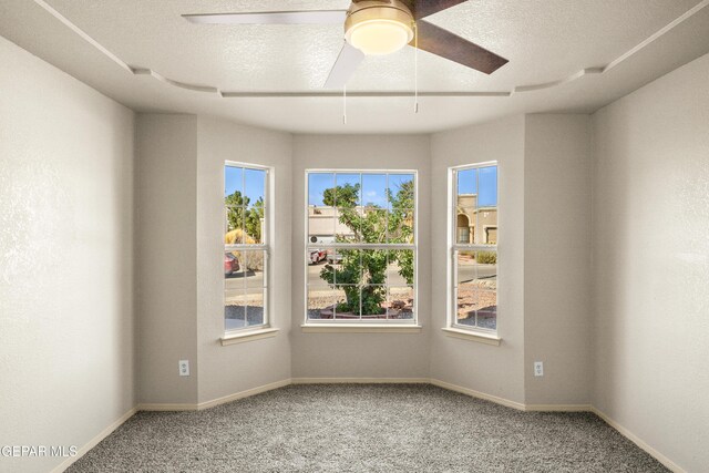
M 253 171 L 263 171 L 266 173 L 264 177 L 264 226 L 261 230 L 261 243 L 260 244 L 234 244 L 227 245 L 224 243 L 224 235 L 226 235 L 227 229 L 227 217 L 226 214 L 223 216 L 225 220 L 223 222 L 222 228 L 222 258 L 224 258 L 224 254 L 227 251 L 264 251 L 264 319 L 261 323 L 258 325 L 245 325 L 244 327 L 237 327 L 233 329 L 226 328 L 226 312 L 223 310 L 222 312 L 222 321 L 224 325 L 224 335 L 225 338 L 232 338 L 238 335 L 243 335 L 245 332 L 254 331 L 254 330 L 265 330 L 271 328 L 271 318 L 270 318 L 270 287 L 271 287 L 271 243 L 270 243 L 270 222 L 271 222 L 271 213 L 273 213 L 273 203 L 271 203 L 271 179 L 274 175 L 274 168 L 270 166 L 264 166 L 260 164 L 254 163 L 245 163 L 239 161 L 225 161 L 222 166 L 222 194 L 226 194 L 226 168 L 227 167 L 240 167 L 242 169 L 253 169 Z M 246 188 L 246 173 L 243 174 L 242 177 L 242 188 Z M 223 213 L 226 213 L 227 205 L 224 203 L 224 196 L 222 197 L 222 207 Z M 226 308 L 226 278 L 222 277 L 222 307 Z M 245 317 L 246 321 L 246 317 Z

